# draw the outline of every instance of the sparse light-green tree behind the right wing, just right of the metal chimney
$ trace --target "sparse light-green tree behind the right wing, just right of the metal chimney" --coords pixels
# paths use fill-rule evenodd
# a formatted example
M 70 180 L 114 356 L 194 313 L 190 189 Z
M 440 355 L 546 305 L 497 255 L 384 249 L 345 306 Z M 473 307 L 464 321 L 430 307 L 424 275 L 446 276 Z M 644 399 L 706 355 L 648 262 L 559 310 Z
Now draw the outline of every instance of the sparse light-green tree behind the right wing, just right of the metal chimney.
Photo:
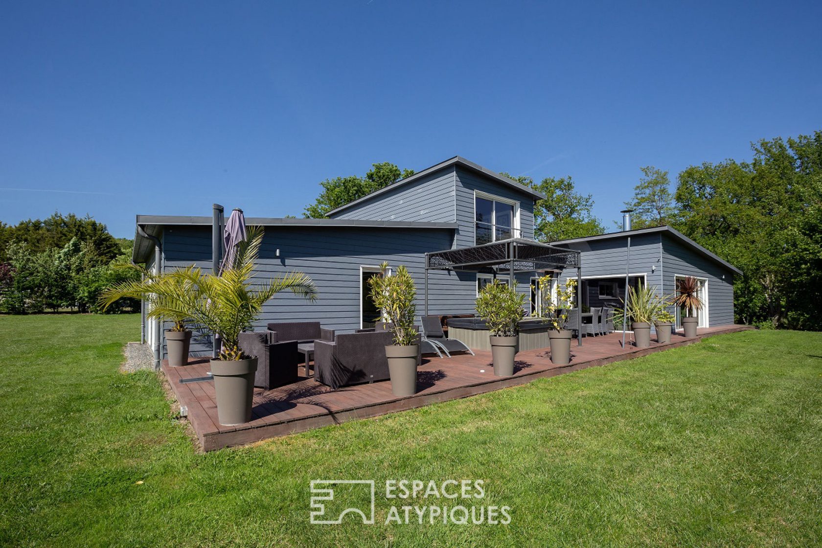
M 673 224 L 677 207 L 671 192 L 671 180 L 667 171 L 645 166 L 640 168 L 644 177 L 634 187 L 633 200 L 626 201 L 626 209 L 634 210 L 631 214 L 632 228 L 660 227 Z

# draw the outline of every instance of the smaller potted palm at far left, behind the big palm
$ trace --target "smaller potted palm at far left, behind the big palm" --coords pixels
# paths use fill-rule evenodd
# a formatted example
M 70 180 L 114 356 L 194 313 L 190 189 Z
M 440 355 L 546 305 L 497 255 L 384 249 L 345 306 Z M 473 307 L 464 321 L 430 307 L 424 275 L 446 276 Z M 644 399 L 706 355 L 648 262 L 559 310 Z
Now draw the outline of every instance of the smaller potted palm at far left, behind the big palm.
M 100 294 L 99 303 L 105 311 L 114 302 L 123 297 L 143 299 L 147 312 L 145 317 L 159 319 L 173 324 L 164 332 L 169 366 L 178 367 L 188 363 L 188 351 L 192 341 L 192 330 L 188 329 L 191 315 L 188 307 L 196 301 L 199 288 L 192 285 L 186 273 L 192 267 L 177 269 L 171 272 L 155 274 L 141 266 L 130 265 L 141 274 L 140 280 L 123 282 Z

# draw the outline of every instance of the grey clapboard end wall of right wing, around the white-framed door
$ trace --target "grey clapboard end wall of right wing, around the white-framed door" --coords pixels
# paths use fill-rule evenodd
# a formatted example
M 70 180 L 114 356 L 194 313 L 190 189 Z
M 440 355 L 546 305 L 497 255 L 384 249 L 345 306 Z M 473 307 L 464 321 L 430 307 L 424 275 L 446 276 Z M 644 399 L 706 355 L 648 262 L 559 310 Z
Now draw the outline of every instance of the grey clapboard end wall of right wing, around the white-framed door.
M 708 325 L 733 324 L 732 270 L 670 236 L 662 235 L 662 246 L 666 291 L 674 292 L 677 275 L 708 279 Z

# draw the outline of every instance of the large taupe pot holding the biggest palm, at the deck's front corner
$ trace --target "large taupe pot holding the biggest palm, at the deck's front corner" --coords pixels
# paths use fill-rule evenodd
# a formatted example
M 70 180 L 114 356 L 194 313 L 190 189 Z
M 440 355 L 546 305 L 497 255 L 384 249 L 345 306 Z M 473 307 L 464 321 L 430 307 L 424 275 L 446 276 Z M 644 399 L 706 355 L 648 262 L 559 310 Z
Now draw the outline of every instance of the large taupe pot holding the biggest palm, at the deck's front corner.
M 217 417 L 224 426 L 252 420 L 254 374 L 257 359 L 211 360 L 211 375 L 217 393 Z

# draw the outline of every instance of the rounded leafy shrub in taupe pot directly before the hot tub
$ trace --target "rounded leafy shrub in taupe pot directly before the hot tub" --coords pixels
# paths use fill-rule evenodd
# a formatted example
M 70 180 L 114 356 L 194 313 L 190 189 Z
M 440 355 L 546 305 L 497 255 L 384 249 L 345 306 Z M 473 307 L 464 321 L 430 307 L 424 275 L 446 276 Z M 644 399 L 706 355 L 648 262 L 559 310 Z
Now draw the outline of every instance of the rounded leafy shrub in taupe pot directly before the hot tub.
M 477 297 L 477 313 L 490 331 L 494 375 L 514 375 L 514 357 L 520 340 L 520 320 L 525 316 L 525 295 L 507 283 L 494 280 Z

